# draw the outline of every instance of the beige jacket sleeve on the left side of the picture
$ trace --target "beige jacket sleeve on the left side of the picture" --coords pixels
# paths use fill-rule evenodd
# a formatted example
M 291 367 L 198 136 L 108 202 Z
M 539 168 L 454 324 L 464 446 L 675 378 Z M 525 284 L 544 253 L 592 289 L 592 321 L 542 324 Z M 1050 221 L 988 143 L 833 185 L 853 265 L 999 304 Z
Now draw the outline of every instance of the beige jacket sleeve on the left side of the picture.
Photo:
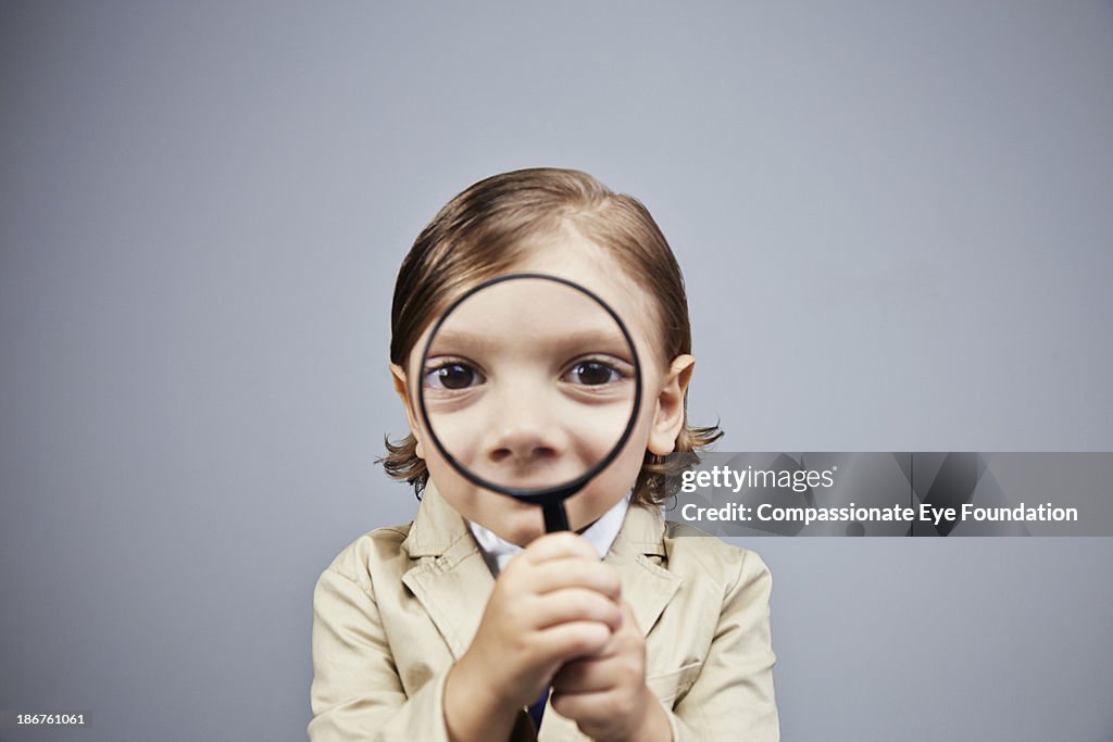
M 313 742 L 449 742 L 446 676 L 407 696 L 370 586 L 325 570 L 313 594 Z

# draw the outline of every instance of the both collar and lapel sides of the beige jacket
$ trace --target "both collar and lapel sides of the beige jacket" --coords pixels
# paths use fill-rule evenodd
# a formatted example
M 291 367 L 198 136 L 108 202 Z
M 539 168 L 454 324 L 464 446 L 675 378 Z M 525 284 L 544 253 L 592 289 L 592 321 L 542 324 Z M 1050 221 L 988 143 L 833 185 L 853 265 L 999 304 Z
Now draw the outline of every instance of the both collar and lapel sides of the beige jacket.
M 412 560 L 402 575 L 403 584 L 459 660 L 479 629 L 494 578 L 464 518 L 432 483 L 425 488 L 402 551 Z M 604 562 L 618 571 L 622 597 L 630 603 L 643 634 L 657 623 L 682 582 L 660 566 L 667 557 L 661 511 L 631 505 Z

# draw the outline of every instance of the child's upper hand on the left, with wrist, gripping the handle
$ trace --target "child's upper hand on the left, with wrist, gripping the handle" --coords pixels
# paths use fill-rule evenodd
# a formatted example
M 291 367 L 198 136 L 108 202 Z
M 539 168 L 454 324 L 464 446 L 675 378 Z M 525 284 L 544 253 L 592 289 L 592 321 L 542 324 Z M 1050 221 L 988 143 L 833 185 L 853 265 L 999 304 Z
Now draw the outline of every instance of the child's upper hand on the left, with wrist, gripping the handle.
M 450 738 L 506 736 L 561 665 L 600 652 L 622 623 L 618 573 L 591 544 L 567 532 L 536 538 L 499 575 L 471 646 L 449 672 Z

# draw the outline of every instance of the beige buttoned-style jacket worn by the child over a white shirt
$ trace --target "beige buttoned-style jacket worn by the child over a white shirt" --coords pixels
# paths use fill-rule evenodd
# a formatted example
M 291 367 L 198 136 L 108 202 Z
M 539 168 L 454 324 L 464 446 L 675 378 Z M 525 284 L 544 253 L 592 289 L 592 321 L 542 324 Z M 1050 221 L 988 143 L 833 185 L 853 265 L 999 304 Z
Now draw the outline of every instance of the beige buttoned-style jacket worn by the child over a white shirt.
M 630 507 L 605 562 L 646 634 L 646 682 L 677 742 L 778 740 L 769 570 L 754 552 Z M 322 573 L 313 597 L 309 738 L 447 742 L 444 679 L 494 581 L 464 520 L 429 487 L 410 525 L 378 528 Z M 588 738 L 523 710 L 512 742 Z

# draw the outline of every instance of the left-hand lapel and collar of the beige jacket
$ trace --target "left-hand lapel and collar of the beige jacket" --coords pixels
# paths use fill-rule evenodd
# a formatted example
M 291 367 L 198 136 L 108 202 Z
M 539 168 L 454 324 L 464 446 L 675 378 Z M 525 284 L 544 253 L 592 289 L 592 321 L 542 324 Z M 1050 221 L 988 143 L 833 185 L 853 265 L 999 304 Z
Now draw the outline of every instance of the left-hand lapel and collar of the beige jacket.
M 459 660 L 475 636 L 494 578 L 467 524 L 432 484 L 425 488 L 402 550 L 413 563 L 402 583 Z

